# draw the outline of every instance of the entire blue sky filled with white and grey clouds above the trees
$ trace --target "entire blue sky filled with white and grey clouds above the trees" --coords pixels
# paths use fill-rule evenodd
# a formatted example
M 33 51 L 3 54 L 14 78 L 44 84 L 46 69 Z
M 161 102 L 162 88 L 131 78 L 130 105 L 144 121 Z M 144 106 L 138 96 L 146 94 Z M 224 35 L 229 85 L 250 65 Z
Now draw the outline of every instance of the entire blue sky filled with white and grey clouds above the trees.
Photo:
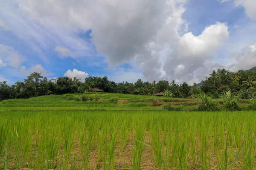
M 0 82 L 200 82 L 256 66 L 256 0 L 1 0 Z

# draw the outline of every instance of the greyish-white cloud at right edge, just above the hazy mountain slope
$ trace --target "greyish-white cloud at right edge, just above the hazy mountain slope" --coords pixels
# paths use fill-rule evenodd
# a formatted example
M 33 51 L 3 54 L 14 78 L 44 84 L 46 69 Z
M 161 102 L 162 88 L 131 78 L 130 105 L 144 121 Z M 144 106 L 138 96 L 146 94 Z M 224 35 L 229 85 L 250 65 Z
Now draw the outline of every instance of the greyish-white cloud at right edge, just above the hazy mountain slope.
M 231 71 L 248 70 L 256 66 L 256 44 L 244 48 L 236 56 L 236 63 L 229 66 Z

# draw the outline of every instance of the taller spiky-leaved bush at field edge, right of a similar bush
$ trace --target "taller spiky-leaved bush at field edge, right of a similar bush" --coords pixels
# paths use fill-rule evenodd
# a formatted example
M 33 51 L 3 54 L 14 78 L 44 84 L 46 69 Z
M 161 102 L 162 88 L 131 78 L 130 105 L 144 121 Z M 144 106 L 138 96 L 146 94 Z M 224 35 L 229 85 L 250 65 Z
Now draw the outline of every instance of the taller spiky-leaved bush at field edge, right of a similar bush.
M 234 98 L 231 91 L 224 91 L 220 96 L 227 111 L 240 111 L 242 109 L 238 104 L 239 98 Z

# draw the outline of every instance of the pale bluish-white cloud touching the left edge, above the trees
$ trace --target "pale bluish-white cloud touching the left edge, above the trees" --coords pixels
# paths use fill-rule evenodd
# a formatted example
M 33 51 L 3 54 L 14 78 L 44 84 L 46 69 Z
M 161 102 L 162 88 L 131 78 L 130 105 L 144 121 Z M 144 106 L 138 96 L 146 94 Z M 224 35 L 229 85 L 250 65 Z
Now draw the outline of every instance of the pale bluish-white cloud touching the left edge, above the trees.
M 19 68 L 26 59 L 12 47 L 4 44 L 0 44 L 0 58 L 14 68 Z

